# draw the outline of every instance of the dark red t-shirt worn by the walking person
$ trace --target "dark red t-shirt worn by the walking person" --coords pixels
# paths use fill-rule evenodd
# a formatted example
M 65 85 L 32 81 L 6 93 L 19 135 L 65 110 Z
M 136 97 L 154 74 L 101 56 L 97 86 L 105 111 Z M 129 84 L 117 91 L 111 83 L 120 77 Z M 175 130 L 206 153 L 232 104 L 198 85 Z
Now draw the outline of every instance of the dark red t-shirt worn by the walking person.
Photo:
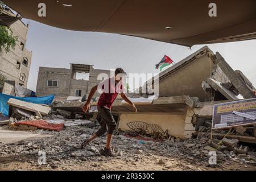
M 106 106 L 111 109 L 113 102 L 117 98 L 118 94 L 122 93 L 123 86 L 122 81 L 115 84 L 114 78 L 109 78 L 98 84 L 98 91 L 103 91 L 98 100 L 98 106 Z

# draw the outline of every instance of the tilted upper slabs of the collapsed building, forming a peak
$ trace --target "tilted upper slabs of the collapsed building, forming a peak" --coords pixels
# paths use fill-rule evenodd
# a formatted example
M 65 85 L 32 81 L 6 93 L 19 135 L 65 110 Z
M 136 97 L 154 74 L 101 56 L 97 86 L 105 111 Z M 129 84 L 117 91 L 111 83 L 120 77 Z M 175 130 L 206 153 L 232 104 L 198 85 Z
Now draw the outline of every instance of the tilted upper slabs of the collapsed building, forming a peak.
M 151 78 L 143 86 L 143 90 L 152 85 L 154 89 L 155 82 L 159 84 L 159 96 L 190 96 L 198 97 L 200 101 L 216 100 L 237 100 L 236 96 L 241 94 L 243 98 L 254 98 L 255 90 L 253 84 L 243 75 L 241 71 L 234 71 L 220 53 L 214 54 L 207 46 L 199 49 L 192 55 L 179 61 L 177 64 L 159 73 L 158 81 L 155 77 Z M 229 91 L 222 92 L 223 89 L 216 89 L 216 84 L 212 90 L 218 90 L 223 97 L 213 98 L 209 96 L 212 91 L 205 82 L 208 78 L 220 82 L 221 84 L 230 84 L 234 93 Z M 202 85 L 203 84 L 203 85 Z M 209 83 L 208 83 L 209 84 Z M 224 95 L 223 95 L 224 94 Z M 214 100 L 215 99 L 215 100 Z

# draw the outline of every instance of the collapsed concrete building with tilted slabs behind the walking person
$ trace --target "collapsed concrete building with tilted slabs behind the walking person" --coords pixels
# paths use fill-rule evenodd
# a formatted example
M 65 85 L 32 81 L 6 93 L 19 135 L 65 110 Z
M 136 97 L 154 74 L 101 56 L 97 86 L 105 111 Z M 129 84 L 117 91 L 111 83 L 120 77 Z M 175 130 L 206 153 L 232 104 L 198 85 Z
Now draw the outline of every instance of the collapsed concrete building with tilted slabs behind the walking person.
M 154 82 L 154 78 L 148 82 Z M 157 125 L 155 133 L 191 138 L 200 119 L 212 119 L 214 104 L 255 98 L 253 90 L 241 71 L 233 71 L 220 53 L 213 53 L 205 46 L 159 74 L 158 99 L 142 102 L 131 98 L 137 114 L 122 100 L 116 100 L 112 113 L 123 131 L 131 130 L 131 122 L 137 122 L 141 130 L 148 130 L 147 125 Z M 81 106 L 81 102 L 62 102 L 53 105 L 53 109 L 84 114 Z

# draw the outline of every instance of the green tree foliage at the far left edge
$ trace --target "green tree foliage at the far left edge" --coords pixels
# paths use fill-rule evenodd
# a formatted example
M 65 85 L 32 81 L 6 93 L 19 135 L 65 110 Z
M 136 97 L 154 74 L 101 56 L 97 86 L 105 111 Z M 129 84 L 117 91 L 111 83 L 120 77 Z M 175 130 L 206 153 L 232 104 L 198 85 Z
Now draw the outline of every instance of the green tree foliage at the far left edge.
M 0 6 L 5 7 L 1 1 Z M 10 49 L 15 49 L 17 41 L 18 36 L 13 35 L 11 28 L 0 26 L 0 52 L 2 52 L 2 49 L 4 49 L 6 53 L 9 52 Z

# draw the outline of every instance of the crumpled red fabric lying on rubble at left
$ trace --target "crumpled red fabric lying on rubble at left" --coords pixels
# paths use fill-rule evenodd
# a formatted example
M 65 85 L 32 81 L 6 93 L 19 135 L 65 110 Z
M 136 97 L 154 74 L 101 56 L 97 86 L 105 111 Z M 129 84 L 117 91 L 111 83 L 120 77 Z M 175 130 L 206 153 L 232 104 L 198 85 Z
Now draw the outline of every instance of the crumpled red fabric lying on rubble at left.
M 64 128 L 64 123 L 53 124 L 53 123 L 48 123 L 48 122 L 43 121 L 43 120 L 21 121 L 21 122 L 15 123 L 14 125 L 15 126 L 28 125 L 28 126 L 37 127 L 38 129 L 53 130 L 53 131 L 60 131 Z

